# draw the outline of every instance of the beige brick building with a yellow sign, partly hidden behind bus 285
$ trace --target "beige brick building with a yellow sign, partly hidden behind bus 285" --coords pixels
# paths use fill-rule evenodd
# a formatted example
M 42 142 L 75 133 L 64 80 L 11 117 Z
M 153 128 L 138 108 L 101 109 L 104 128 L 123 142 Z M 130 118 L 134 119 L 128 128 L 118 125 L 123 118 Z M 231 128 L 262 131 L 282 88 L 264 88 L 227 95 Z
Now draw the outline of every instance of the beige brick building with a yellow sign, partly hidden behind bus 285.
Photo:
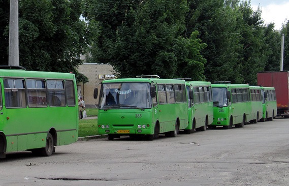
M 88 83 L 78 83 L 78 97 L 82 96 L 85 107 L 96 107 L 99 99 L 93 98 L 95 87 L 100 89 L 100 83 L 104 79 L 113 79 L 113 68 L 108 64 L 90 64 L 85 63 L 78 67 L 78 71 L 88 78 Z

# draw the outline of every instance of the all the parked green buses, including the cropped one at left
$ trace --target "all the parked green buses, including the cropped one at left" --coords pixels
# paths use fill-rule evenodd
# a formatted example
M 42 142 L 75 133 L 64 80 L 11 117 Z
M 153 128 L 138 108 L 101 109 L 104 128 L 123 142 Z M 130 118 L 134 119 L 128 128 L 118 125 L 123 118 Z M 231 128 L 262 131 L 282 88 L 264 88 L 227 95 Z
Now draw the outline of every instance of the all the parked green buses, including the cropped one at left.
M 98 89 L 94 90 L 94 98 Z M 99 98 L 99 134 L 176 137 L 207 127 L 243 127 L 276 116 L 272 87 L 211 84 L 157 76 L 105 80 Z M 30 150 L 51 156 L 78 139 L 75 75 L 0 67 L 0 158 Z

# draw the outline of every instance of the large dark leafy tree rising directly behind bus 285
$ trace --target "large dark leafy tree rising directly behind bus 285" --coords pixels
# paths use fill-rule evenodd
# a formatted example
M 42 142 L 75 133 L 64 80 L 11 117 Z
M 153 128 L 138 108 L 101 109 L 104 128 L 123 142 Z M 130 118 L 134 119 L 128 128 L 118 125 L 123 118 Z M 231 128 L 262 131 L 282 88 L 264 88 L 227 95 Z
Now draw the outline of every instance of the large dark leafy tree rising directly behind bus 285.
M 91 47 L 92 57 L 98 63 L 112 65 L 119 77 L 198 74 L 203 78 L 205 60 L 194 49 L 204 46 L 194 36 L 180 37 L 185 28 L 186 1 L 89 0 L 85 5 L 84 17 L 99 21 L 101 30 Z M 180 64 L 198 66 L 200 71 L 179 71 Z

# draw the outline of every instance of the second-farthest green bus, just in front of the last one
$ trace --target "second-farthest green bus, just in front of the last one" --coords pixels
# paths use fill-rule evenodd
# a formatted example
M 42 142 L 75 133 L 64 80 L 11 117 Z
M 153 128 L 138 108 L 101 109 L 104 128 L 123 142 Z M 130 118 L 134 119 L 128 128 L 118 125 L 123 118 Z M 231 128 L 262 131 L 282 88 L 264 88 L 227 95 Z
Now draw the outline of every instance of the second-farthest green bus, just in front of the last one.
M 260 86 L 250 86 L 249 88 L 252 111 L 252 120 L 250 122 L 257 123 L 259 119 L 262 119 L 263 115 L 262 90 Z

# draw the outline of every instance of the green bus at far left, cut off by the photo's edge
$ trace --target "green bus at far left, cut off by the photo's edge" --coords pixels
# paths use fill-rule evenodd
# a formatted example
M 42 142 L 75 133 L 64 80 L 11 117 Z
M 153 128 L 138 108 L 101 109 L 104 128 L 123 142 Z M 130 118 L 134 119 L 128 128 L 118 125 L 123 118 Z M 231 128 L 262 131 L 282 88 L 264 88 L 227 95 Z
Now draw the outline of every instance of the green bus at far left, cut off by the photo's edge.
M 78 139 L 75 75 L 0 67 L 0 157 L 29 150 L 51 156 Z

